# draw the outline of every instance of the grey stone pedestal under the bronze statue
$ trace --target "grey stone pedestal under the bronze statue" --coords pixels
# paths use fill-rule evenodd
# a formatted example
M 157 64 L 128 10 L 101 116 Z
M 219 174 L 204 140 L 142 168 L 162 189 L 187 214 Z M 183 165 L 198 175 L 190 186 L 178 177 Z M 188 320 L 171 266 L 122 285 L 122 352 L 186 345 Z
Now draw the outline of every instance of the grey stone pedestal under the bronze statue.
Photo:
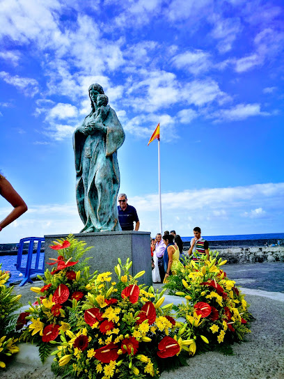
M 45 235 L 45 270 L 50 271 L 55 265 L 47 265 L 49 258 L 57 258 L 56 250 L 50 249 L 49 245 L 58 238 L 66 238 L 68 234 Z M 97 270 L 100 272 L 110 271 L 113 273 L 113 281 L 116 281 L 114 266 L 118 264 L 118 258 L 124 265 L 127 258 L 132 261 L 129 274 L 145 270 L 143 277 L 138 279 L 139 284 L 152 286 L 152 265 L 150 249 L 150 232 L 148 231 L 109 231 L 103 233 L 78 233 L 74 234 L 77 240 L 86 242 L 86 247 L 91 246 L 86 257 L 92 257 L 88 261 L 90 273 Z M 82 258 L 81 258 L 82 259 Z M 84 259 L 84 257 L 83 257 Z

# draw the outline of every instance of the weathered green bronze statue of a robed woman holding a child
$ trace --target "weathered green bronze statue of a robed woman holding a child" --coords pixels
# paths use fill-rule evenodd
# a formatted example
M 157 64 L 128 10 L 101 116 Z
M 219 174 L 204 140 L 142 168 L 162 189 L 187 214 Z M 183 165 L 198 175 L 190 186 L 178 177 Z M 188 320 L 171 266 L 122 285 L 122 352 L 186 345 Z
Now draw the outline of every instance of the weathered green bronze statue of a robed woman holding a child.
M 92 111 L 73 136 L 77 206 L 84 223 L 81 233 L 121 231 L 117 150 L 125 132 L 102 86 L 92 84 L 88 91 Z

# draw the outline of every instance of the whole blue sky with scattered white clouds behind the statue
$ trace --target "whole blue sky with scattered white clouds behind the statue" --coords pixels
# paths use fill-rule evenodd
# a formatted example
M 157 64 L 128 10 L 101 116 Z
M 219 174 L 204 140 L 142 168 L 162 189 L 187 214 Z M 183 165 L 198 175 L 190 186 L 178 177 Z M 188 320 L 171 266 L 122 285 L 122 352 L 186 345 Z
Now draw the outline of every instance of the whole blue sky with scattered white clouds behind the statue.
M 283 232 L 282 0 L 3 0 L 0 169 L 29 206 L 1 242 L 77 233 L 72 133 L 99 83 L 141 230 Z M 10 206 L 0 199 L 0 218 Z

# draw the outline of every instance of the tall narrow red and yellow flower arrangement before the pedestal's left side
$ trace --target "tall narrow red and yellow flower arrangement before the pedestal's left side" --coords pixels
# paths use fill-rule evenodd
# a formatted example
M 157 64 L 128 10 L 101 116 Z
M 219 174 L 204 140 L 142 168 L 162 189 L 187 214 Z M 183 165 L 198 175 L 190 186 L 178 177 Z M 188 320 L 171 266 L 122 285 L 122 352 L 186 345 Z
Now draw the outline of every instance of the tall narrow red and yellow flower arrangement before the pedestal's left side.
M 94 274 L 90 275 L 86 262 L 79 263 L 90 247 L 85 248 L 84 242 L 79 242 L 73 235 L 66 240 L 59 239 L 50 246 L 58 252 L 58 258 L 50 258 L 54 265 L 52 272 L 45 271 L 44 286 L 31 287 L 38 294 L 36 302 L 28 310 L 19 315 L 18 329 L 22 330 L 21 339 L 36 342 L 39 346 L 42 362 L 52 350 L 52 341 L 59 341 L 62 330 L 72 330 L 76 327 L 76 309 L 80 300 L 84 299 Z M 67 323 L 68 320 L 68 323 Z

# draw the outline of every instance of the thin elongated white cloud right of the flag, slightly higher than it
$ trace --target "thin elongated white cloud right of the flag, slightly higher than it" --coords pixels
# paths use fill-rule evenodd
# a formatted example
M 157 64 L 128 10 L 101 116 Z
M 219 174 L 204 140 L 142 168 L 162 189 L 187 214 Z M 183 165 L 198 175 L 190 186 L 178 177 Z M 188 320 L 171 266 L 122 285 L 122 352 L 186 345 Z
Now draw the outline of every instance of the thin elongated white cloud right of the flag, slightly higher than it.
M 269 116 L 269 113 L 261 111 L 259 104 L 238 104 L 230 109 L 219 109 L 209 117 L 216 118 L 218 121 L 239 121 L 251 116 Z

